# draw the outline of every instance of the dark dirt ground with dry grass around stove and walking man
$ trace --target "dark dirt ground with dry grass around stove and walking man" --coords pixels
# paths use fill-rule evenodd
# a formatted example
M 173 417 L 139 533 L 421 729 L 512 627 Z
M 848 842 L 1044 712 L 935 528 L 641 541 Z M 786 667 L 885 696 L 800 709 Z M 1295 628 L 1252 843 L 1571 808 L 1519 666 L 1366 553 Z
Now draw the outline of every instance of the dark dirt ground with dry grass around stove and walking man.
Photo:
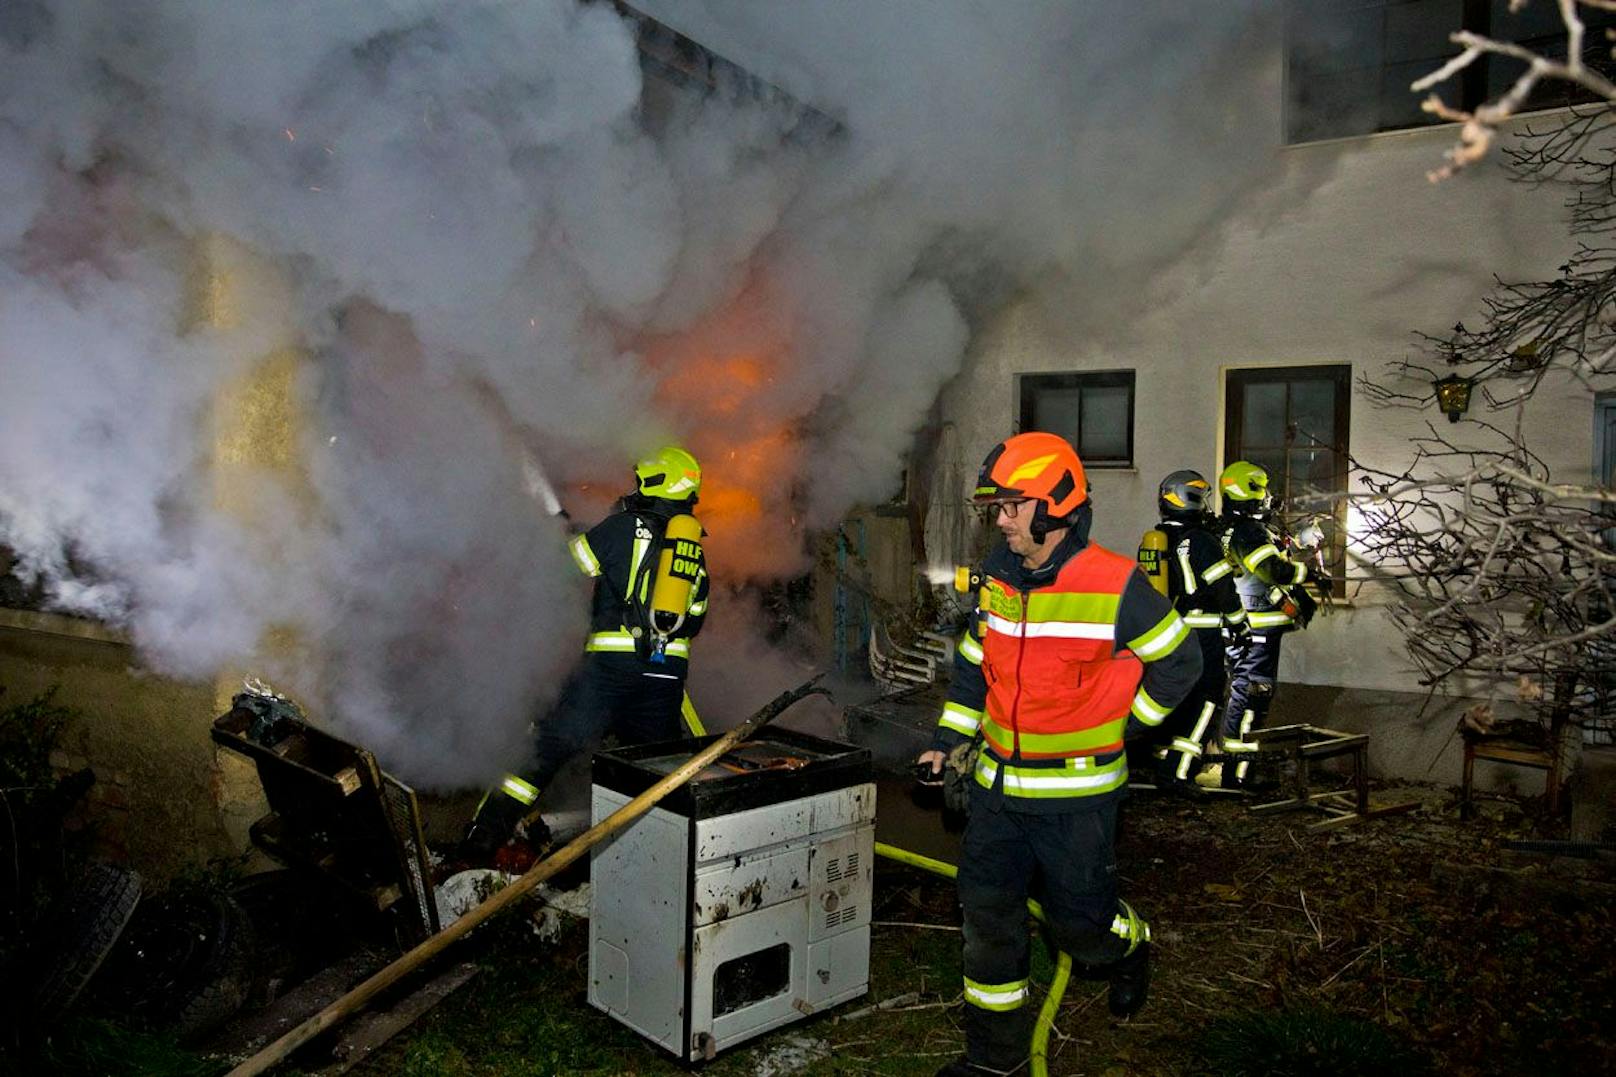
M 1317 1037 L 1296 1062 L 1281 1058 L 1283 1045 L 1254 1046 L 1239 1032 L 1243 1020 L 1283 1016 L 1367 1028 L 1404 1053 L 1391 1072 L 1616 1072 L 1610 862 L 1511 852 L 1509 839 L 1538 830 L 1530 804 L 1485 800 L 1480 818 L 1459 821 L 1445 789 L 1380 788 L 1375 799 L 1419 807 L 1314 830 L 1317 815 L 1256 815 L 1246 800 L 1136 796 L 1118 855 L 1125 896 L 1154 925 L 1151 1003 L 1118 1024 L 1102 983 L 1073 980 L 1049 1072 L 1345 1074 L 1370 1064 Z M 962 1045 L 957 925 L 952 885 L 882 862 L 869 998 L 705 1071 L 932 1072 Z M 470 940 L 485 974 L 357 1072 L 680 1072 L 585 1006 L 582 925 L 540 949 L 512 931 Z M 1039 995 L 1050 975 L 1041 949 Z M 890 999 L 900 1004 L 865 1009 Z

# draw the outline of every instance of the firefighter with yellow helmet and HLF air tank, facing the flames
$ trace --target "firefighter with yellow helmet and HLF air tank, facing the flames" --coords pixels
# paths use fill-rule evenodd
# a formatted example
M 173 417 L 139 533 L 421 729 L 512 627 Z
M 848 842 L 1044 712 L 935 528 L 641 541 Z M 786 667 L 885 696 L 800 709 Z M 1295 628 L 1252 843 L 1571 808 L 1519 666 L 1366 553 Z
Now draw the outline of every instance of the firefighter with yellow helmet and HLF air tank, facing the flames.
M 701 526 L 690 514 L 701 467 L 688 451 L 664 446 L 633 474 L 633 493 L 567 543 L 579 571 L 595 579 L 583 661 L 538 723 L 533 768 L 506 775 L 478 805 L 461 843 L 469 862 L 490 860 L 519 823 L 532 846 L 543 846 L 540 792 L 606 733 L 622 744 L 680 736 L 690 640 L 708 605 Z

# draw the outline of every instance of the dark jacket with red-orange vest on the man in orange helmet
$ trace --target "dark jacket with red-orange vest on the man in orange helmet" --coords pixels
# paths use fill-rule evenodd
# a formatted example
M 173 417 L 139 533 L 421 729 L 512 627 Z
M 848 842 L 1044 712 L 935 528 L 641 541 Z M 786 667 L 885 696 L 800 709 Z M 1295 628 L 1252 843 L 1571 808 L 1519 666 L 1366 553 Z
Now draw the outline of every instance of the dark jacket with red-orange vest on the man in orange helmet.
M 1160 724 L 1201 674 L 1167 598 L 1131 558 L 1083 538 L 1034 571 L 1004 547 L 983 563 L 937 723 L 944 750 L 981 734 L 978 784 L 1033 810 L 1125 786 L 1130 726 Z

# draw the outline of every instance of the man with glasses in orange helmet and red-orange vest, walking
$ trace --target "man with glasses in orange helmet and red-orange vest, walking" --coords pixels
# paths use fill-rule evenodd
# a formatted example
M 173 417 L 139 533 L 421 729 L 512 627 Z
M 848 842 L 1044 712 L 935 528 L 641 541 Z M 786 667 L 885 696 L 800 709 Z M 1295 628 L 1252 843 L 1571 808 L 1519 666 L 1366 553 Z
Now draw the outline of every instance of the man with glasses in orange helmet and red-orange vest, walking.
M 978 610 L 955 652 L 932 775 L 978 750 L 960 851 L 965 1058 L 939 1074 L 1010 1072 L 1028 1058 L 1036 896 L 1052 943 L 1110 980 L 1131 1016 L 1149 986 L 1149 927 L 1117 898 L 1113 839 L 1128 784 L 1125 734 L 1189 694 L 1201 653 L 1131 558 L 1089 542 L 1083 462 L 1052 433 L 989 453 L 974 501 L 1004 543 L 981 566 Z

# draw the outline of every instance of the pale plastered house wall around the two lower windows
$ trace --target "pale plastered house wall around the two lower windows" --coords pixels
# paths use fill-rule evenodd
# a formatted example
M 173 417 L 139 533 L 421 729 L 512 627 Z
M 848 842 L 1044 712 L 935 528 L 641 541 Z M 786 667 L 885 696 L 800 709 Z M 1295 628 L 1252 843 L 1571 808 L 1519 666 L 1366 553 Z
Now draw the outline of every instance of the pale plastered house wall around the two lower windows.
M 1480 322 L 1493 273 L 1555 275 L 1574 249 L 1561 196 L 1508 183 L 1496 162 L 1429 183 L 1451 141 L 1445 126 L 1280 150 L 1277 186 L 1165 275 L 1143 317 L 1096 325 L 1091 340 L 1062 332 L 1033 301 L 1005 310 L 944 393 L 942 417 L 955 424 L 963 456 L 979 459 L 1013 430 L 1016 374 L 1136 370 L 1136 467 L 1091 471 L 1094 535 L 1131 553 L 1155 519 L 1162 475 L 1222 469 L 1227 370 L 1349 362 L 1354 378 L 1380 377 L 1414 354 L 1414 330 L 1443 335 L 1454 322 Z M 1351 451 L 1401 471 L 1409 437 L 1427 420 L 1464 429 L 1433 409 L 1375 408 L 1354 386 Z M 1589 480 L 1592 430 L 1587 390 L 1545 385 L 1529 404 L 1527 440 L 1561 482 Z M 1285 682 L 1340 691 L 1281 689 L 1275 721 L 1374 728 L 1383 734 L 1382 773 L 1458 781 L 1450 733 L 1462 700 L 1416 716 L 1424 692 L 1383 600 L 1364 589 L 1286 640 Z M 1532 771 L 1480 775 L 1483 784 L 1495 778 L 1540 786 Z

